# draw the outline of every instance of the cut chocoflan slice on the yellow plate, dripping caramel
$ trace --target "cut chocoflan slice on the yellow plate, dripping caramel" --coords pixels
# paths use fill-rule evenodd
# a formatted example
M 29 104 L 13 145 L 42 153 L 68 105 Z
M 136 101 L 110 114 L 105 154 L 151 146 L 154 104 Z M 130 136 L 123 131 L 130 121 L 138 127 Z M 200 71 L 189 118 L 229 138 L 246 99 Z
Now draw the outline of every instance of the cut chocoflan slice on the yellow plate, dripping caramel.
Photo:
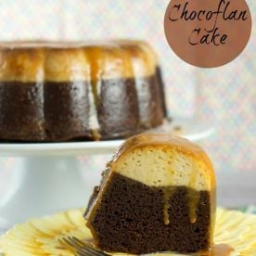
M 202 148 L 167 134 L 129 138 L 84 213 L 96 247 L 134 254 L 211 250 L 215 177 Z

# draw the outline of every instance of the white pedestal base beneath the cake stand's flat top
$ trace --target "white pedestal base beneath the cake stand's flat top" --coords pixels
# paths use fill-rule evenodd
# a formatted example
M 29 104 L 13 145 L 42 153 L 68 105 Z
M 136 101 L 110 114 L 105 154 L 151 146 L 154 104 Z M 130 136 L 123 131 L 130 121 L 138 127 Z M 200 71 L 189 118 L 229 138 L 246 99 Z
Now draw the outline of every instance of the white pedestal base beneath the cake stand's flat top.
M 100 179 L 100 171 L 90 172 L 90 180 L 84 179 L 82 171 L 86 172 L 86 168 L 75 157 L 17 159 L 8 189 L 0 200 L 0 229 L 33 217 L 85 206 Z

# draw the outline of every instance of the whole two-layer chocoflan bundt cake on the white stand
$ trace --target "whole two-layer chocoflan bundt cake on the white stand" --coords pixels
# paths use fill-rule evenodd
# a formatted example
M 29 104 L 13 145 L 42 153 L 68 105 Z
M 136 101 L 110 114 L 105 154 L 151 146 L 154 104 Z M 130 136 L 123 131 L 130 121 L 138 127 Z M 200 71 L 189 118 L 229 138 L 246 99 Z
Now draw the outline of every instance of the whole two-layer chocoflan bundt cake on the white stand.
M 138 134 L 166 114 L 145 43 L 0 44 L 0 139 L 66 141 Z

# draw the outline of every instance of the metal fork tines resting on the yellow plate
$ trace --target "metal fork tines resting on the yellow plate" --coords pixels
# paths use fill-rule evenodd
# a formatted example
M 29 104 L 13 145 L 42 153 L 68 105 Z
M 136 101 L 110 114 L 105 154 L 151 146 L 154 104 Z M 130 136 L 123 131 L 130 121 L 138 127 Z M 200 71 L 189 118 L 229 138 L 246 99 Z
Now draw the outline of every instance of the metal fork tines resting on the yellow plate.
M 70 250 L 74 251 L 78 256 L 109 256 L 110 254 L 96 250 L 92 245 L 83 242 L 77 237 L 62 237 L 59 242 Z

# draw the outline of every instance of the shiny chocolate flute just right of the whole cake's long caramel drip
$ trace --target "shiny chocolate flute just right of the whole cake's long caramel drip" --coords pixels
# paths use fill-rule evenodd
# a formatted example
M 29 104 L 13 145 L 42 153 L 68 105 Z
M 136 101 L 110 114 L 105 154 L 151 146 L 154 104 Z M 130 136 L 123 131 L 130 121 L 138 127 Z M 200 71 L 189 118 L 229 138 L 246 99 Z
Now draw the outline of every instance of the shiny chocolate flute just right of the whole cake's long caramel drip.
M 102 81 L 97 100 L 100 134 L 111 138 L 141 131 L 138 104 L 134 79 Z

